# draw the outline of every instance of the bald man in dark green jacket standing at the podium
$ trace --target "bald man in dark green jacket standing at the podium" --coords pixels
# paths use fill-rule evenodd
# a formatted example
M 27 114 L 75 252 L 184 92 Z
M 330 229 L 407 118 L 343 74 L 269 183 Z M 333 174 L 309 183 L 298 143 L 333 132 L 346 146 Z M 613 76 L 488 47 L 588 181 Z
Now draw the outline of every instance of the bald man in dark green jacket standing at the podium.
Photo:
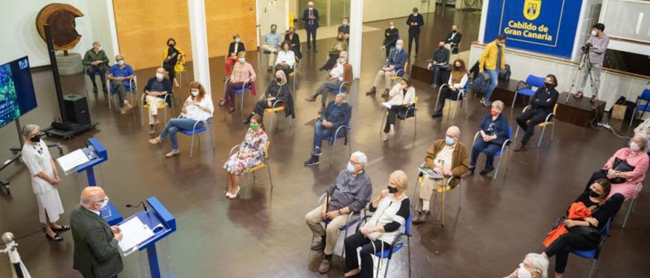
M 122 231 L 99 216 L 109 197 L 99 186 L 87 186 L 81 192 L 81 204 L 70 214 L 74 246 L 73 268 L 83 277 L 109 278 L 122 272 L 122 257 L 118 242 Z

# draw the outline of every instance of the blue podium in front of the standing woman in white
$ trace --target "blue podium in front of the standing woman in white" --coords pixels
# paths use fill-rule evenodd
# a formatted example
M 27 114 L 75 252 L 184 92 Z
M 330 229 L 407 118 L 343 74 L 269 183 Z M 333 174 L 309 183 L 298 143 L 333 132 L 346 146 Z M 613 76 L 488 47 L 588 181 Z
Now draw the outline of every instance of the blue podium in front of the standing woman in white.
M 88 143 L 86 147 L 81 148 L 86 157 L 88 157 L 88 162 L 76 166 L 74 169 L 77 173 L 86 172 L 86 178 L 88 179 L 88 186 L 97 186 L 97 181 L 95 180 L 95 171 L 94 167 L 100 163 L 109 160 L 109 155 L 106 151 L 106 148 L 99 143 L 94 137 L 87 139 Z M 99 215 L 106 220 L 109 225 L 117 225 L 122 221 L 122 215 L 115 208 L 115 206 L 110 202 L 109 204 L 101 209 Z

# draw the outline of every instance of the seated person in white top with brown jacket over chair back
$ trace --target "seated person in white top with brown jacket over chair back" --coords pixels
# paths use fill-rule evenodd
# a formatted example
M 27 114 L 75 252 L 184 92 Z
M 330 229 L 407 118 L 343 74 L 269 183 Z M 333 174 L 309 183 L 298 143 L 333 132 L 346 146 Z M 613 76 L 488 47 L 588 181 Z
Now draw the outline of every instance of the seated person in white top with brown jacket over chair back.
M 311 97 L 307 97 L 305 101 L 314 102 L 318 95 L 322 95 L 320 101 L 322 106 L 320 107 L 320 110 L 318 110 L 318 114 L 320 114 L 325 110 L 327 94 L 330 91 L 332 91 L 334 95 L 339 94 L 339 88 L 341 88 L 341 84 L 344 82 L 347 83 L 343 85 L 343 91 L 341 93 L 349 94 L 350 84 L 352 84 L 352 64 L 348 62 L 347 51 L 341 51 L 341 53 L 339 53 L 339 59 L 336 61 L 336 65 L 330 70 L 330 78 L 323 82 L 323 84 L 316 89 L 315 94 L 311 95 Z

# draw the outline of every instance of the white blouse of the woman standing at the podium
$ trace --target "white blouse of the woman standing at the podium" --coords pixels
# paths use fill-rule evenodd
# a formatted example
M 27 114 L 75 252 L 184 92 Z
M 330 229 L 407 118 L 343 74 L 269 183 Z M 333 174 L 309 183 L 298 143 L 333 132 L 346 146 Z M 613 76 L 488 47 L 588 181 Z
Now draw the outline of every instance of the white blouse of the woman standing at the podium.
M 54 178 L 54 168 L 51 162 L 51 156 L 47 149 L 47 144 L 43 140 L 36 145 L 25 144 L 21 151 L 21 159 L 25 162 L 25 166 L 29 170 L 32 178 L 32 190 L 34 194 L 44 194 L 49 190 L 53 190 L 54 186 L 36 174 L 44 172 L 49 177 Z

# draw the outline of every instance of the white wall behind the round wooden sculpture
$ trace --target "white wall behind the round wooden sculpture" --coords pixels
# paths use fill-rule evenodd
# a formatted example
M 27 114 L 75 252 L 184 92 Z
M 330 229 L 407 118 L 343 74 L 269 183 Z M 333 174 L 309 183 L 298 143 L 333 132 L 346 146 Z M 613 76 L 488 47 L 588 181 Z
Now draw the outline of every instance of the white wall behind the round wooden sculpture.
M 0 44 L 0 63 L 28 55 L 32 67 L 49 65 L 47 45 L 36 31 L 36 15 L 41 8 L 50 3 L 70 4 L 85 15 L 76 19 L 77 32 L 81 34 L 81 41 L 72 49 L 72 52 L 83 55 L 92 47 L 94 41 L 88 1 L 93 1 L 94 5 L 99 2 L 99 0 L 3 1 L 3 8 L 0 10 L 0 34 L 5 40 Z

